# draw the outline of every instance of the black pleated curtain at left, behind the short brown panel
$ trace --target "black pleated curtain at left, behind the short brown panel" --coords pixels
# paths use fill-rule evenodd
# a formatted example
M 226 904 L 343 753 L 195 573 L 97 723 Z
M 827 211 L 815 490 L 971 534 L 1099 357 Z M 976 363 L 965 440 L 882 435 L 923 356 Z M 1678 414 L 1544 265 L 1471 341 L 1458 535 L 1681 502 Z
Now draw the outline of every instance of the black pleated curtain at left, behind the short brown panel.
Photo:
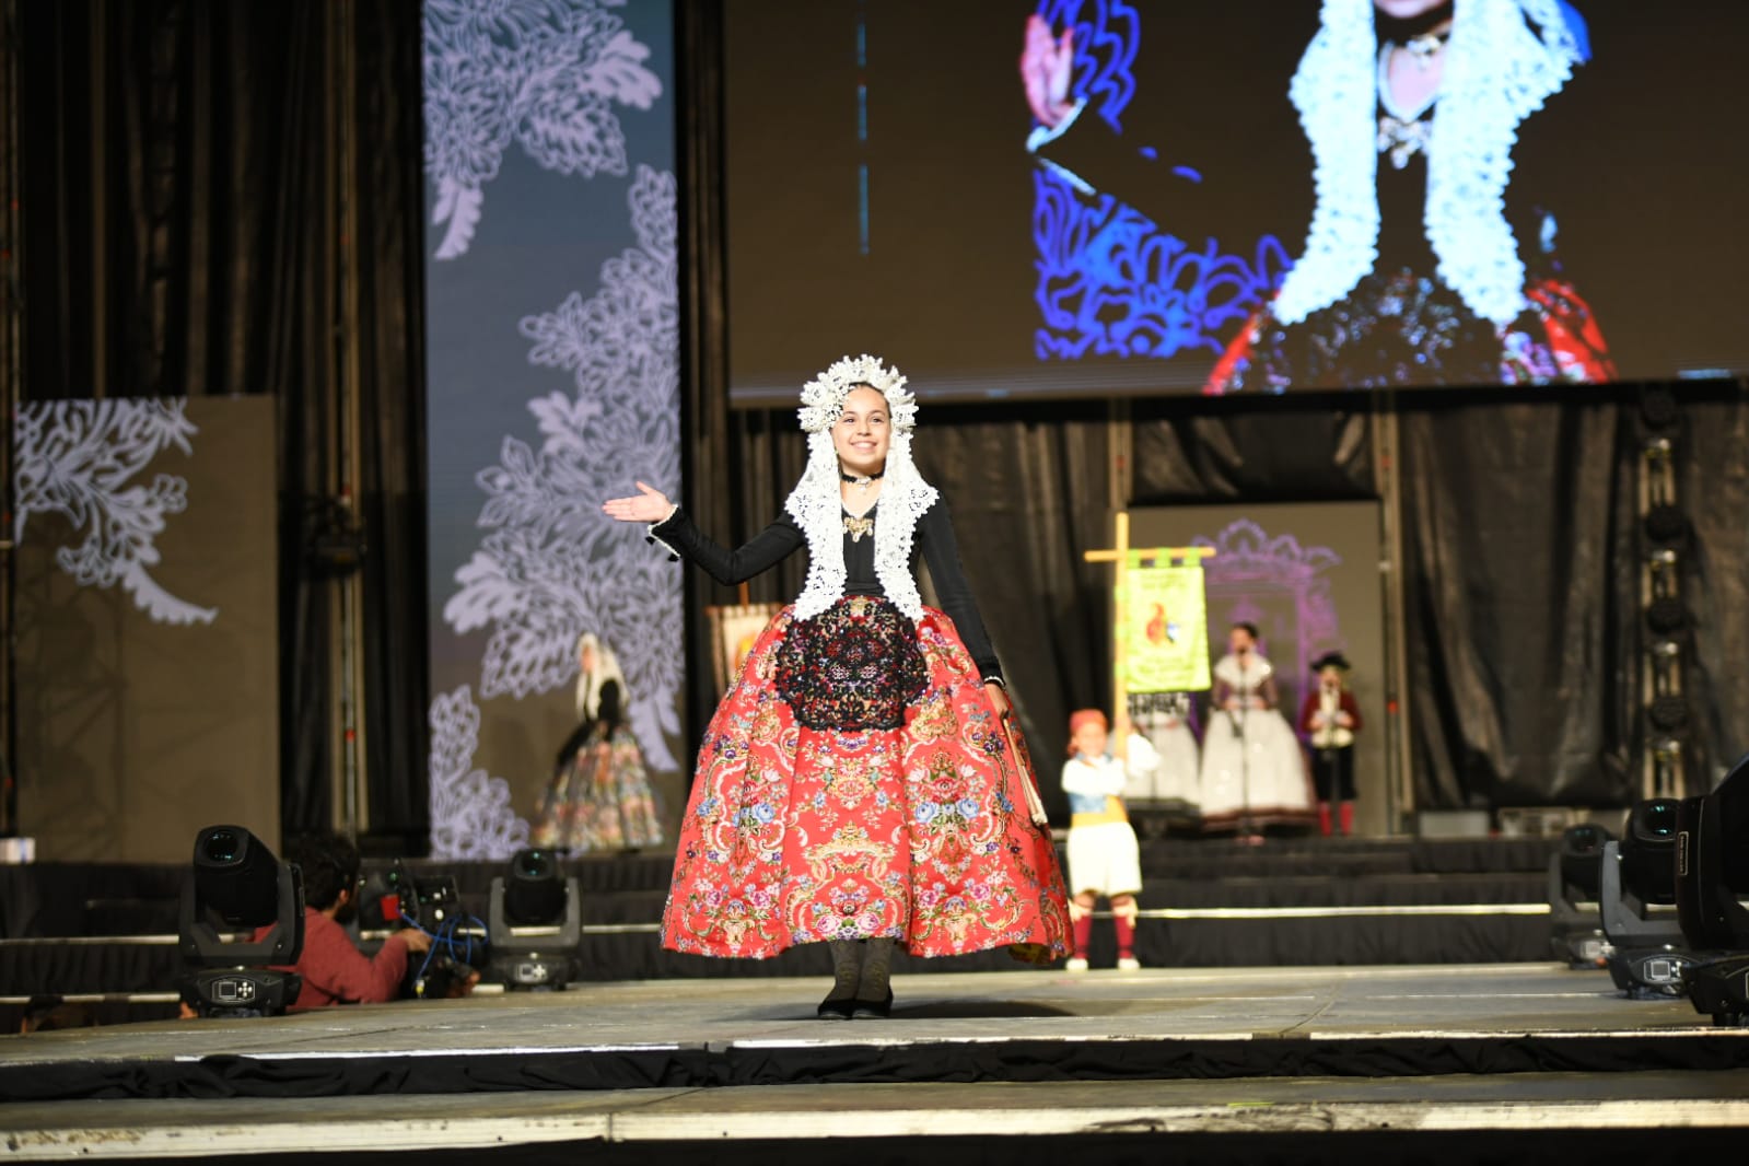
M 357 393 L 369 820 L 423 844 L 420 3 L 66 0 L 21 16 L 26 397 L 278 400 L 294 834 L 331 818 L 338 591 L 306 551 L 339 482 L 338 386 Z

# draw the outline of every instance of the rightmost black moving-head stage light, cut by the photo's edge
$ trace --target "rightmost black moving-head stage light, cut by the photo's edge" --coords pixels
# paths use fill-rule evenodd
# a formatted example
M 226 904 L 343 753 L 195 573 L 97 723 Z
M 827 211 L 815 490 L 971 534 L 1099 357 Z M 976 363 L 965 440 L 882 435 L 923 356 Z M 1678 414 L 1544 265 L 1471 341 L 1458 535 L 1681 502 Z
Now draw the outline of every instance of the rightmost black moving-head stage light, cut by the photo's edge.
M 1684 968 L 1697 1012 L 1749 1023 L 1749 757 L 1719 788 L 1683 802 L 1676 846 L 1676 911 L 1691 947 L 1714 958 Z

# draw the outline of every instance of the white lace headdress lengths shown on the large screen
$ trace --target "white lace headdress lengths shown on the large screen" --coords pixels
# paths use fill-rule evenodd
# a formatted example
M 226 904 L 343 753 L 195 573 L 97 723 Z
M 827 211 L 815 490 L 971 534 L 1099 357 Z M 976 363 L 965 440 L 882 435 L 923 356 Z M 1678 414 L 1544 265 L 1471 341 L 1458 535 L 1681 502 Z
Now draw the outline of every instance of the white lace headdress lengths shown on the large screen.
M 1312 142 L 1317 208 L 1305 253 L 1275 299 L 1282 323 L 1347 295 L 1378 259 L 1376 51 L 1373 0 L 1324 0 L 1287 89 Z M 1579 59 L 1560 0 L 1455 0 L 1424 220 L 1439 278 L 1495 327 L 1525 308 L 1523 260 L 1506 222 L 1518 124 L 1567 84 Z

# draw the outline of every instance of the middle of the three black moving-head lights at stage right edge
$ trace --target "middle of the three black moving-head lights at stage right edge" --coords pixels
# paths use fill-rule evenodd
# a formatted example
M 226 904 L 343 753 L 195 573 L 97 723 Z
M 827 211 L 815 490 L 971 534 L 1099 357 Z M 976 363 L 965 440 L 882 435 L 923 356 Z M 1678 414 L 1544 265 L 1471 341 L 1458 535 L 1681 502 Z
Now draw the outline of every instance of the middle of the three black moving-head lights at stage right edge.
M 1684 949 L 1676 904 L 1674 797 L 1653 797 L 1628 811 L 1620 843 L 1604 843 L 1599 906 L 1609 977 L 1634 1000 L 1683 995 L 1683 968 L 1695 961 Z

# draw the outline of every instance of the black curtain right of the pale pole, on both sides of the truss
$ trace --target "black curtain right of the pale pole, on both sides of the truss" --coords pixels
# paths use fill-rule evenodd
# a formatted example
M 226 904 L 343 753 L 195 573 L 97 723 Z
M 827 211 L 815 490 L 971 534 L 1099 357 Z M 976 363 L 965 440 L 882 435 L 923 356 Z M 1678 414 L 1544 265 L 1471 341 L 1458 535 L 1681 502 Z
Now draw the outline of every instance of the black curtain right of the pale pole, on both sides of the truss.
M 1669 430 L 1691 631 L 1686 788 L 1749 748 L 1749 402 L 1677 390 Z M 1417 801 L 1621 806 L 1641 797 L 1644 624 L 1630 395 L 1404 407 L 1404 586 Z

